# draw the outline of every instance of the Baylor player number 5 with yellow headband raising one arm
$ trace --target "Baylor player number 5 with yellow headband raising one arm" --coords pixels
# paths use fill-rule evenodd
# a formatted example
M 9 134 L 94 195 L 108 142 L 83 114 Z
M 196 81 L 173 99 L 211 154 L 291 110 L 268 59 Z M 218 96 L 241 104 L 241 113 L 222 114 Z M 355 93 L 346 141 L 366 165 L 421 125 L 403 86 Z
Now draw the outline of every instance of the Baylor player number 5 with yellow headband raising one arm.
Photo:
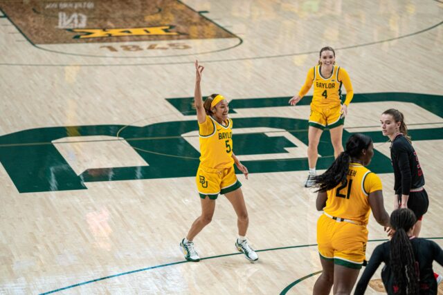
M 199 261 L 199 255 L 192 240 L 201 229 L 211 222 L 215 211 L 215 200 L 219 193 L 225 195 L 237 213 L 237 227 L 239 237 L 235 247 L 248 260 L 258 259 L 257 253 L 246 240 L 248 229 L 248 211 L 244 202 L 242 184 L 235 176 L 234 164 L 248 179 L 248 169 L 242 165 L 233 153 L 232 127 L 233 121 L 228 117 L 228 102 L 219 94 L 210 95 L 205 102 L 201 97 L 201 73 L 203 66 L 195 61 L 195 107 L 200 135 L 200 164 L 195 178 L 200 195 L 201 216 L 193 223 L 186 238 L 180 243 L 181 251 L 186 260 Z

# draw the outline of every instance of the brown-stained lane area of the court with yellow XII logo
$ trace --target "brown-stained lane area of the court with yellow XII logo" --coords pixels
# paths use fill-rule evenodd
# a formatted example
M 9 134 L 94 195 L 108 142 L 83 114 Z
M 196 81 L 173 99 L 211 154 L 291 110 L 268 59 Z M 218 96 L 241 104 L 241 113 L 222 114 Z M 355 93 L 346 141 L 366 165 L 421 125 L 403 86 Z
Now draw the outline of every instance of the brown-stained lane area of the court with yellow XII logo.
M 235 38 L 177 0 L 0 0 L 0 9 L 40 45 Z

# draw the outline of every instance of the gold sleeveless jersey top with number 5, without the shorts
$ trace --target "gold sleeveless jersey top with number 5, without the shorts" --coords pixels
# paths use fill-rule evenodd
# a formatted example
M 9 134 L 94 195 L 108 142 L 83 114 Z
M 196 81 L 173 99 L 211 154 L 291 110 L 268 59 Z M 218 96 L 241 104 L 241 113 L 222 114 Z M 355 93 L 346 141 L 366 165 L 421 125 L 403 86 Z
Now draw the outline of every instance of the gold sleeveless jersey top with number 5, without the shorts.
M 200 162 L 208 168 L 228 168 L 233 166 L 233 121 L 228 118 L 226 126 L 206 115 L 206 121 L 199 123 Z

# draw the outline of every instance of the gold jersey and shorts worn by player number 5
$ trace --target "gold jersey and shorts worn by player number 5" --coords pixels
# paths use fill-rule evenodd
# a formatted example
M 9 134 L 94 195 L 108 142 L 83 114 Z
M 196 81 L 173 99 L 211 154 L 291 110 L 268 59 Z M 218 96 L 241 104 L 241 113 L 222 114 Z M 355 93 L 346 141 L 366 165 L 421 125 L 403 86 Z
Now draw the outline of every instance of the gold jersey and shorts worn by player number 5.
M 225 125 L 206 115 L 199 123 L 200 164 L 195 182 L 200 198 L 217 199 L 219 193 L 235 191 L 242 186 L 234 170 L 232 126 L 228 118 Z

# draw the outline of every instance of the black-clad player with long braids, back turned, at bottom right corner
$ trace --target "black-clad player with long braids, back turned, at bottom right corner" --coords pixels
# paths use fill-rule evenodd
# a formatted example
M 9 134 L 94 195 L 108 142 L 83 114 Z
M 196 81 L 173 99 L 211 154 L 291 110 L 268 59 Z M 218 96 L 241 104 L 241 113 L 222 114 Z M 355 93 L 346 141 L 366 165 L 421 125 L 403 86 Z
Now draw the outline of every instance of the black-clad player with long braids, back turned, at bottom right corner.
M 415 221 L 415 214 L 410 209 L 392 212 L 390 225 L 395 234 L 392 240 L 374 249 L 354 295 L 364 294 L 370 278 L 382 262 L 386 265 L 381 271 L 381 279 L 388 294 L 437 294 L 432 263 L 435 260 L 443 266 L 443 250 L 431 240 L 413 236 Z

